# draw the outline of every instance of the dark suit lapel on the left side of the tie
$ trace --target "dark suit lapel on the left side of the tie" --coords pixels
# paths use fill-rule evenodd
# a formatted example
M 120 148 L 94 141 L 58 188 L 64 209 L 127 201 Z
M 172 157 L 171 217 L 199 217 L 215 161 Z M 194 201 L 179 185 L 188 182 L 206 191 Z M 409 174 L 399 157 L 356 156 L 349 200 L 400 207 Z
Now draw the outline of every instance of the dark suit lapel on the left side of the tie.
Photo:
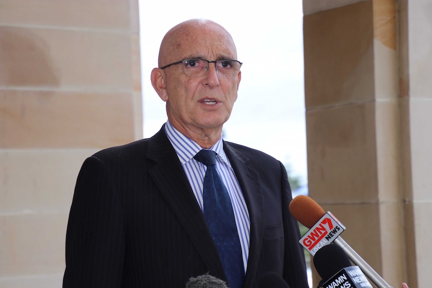
M 147 157 L 155 163 L 149 171 L 150 176 L 186 230 L 210 274 L 224 278 L 218 250 L 164 127 L 150 139 Z

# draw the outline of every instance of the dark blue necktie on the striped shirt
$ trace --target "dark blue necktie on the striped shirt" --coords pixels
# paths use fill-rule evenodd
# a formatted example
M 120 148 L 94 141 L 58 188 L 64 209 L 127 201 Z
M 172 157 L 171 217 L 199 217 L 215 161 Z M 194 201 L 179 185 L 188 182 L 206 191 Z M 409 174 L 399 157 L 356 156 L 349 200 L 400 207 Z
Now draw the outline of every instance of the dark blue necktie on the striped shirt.
M 195 160 L 207 166 L 203 185 L 204 218 L 218 247 L 230 288 L 241 288 L 245 278 L 242 247 L 227 188 L 216 171 L 216 153 L 201 150 Z

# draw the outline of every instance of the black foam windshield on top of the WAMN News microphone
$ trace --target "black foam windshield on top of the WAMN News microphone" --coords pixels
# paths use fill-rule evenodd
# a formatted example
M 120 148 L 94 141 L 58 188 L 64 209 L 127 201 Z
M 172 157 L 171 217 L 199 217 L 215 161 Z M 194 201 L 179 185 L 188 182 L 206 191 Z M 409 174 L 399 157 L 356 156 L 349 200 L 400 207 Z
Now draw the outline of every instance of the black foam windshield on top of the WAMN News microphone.
M 351 262 L 341 247 L 328 244 L 315 253 L 314 266 L 325 282 L 341 269 L 351 266 Z

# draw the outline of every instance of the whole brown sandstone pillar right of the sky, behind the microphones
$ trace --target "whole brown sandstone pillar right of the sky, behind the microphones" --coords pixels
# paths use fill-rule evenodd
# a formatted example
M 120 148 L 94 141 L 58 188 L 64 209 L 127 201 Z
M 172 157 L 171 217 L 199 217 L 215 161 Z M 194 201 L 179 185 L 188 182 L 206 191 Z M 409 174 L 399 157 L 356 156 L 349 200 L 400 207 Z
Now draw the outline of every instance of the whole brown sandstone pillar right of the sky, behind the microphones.
M 303 8 L 310 196 L 390 285 L 427 286 L 432 6 L 303 0 Z

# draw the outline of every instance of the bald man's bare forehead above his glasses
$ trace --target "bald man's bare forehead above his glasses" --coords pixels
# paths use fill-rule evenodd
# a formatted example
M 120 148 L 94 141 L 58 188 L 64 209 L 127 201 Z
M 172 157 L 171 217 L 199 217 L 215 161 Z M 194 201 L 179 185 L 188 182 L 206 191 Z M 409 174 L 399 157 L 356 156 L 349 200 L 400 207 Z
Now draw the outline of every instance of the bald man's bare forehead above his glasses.
M 193 57 L 209 58 L 207 60 L 237 59 L 231 35 L 214 23 L 186 25 L 175 31 L 171 40 L 171 51 L 167 56 L 172 59 L 169 61 Z

